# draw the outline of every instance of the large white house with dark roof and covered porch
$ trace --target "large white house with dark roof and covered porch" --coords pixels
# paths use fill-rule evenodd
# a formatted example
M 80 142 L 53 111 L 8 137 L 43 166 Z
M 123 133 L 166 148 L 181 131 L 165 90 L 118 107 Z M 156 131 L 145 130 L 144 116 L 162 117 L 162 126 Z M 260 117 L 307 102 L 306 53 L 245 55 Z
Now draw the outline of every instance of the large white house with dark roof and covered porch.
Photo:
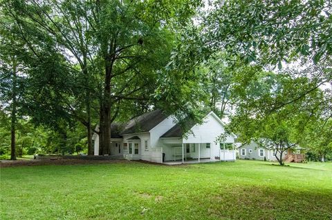
M 192 123 L 191 132 L 183 132 L 174 117 L 154 110 L 131 119 L 126 125 L 111 125 L 111 154 L 123 155 L 129 160 L 163 161 L 234 161 L 236 151 L 223 149 L 216 138 L 225 132 L 225 124 L 214 112 L 203 123 Z M 98 128 L 96 128 L 98 130 Z M 183 135 L 186 134 L 186 135 Z M 230 134 L 225 143 L 232 146 L 235 134 Z M 94 154 L 99 154 L 99 137 L 93 134 Z M 164 157 L 164 160 L 163 160 Z M 174 163 L 174 162 L 173 162 Z

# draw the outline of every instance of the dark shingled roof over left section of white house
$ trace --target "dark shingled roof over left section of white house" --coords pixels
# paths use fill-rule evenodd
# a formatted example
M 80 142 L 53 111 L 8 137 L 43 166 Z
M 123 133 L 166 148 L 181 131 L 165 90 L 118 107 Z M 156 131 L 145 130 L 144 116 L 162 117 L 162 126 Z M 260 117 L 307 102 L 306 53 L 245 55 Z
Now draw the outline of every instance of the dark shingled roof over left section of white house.
M 131 119 L 124 127 L 124 130 L 120 132 L 120 135 L 149 132 L 149 130 L 156 127 L 158 123 L 164 121 L 167 117 L 166 114 L 158 109 L 152 112 L 146 112 L 145 114 Z

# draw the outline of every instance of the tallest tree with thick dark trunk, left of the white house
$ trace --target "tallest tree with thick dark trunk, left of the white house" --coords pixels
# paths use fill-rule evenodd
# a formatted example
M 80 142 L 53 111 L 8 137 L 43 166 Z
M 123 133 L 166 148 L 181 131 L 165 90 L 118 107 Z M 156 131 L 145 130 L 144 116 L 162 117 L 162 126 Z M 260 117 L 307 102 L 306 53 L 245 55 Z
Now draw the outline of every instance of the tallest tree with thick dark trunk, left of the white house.
M 55 92 L 55 99 L 50 100 L 62 100 L 55 107 L 60 112 L 66 109 L 86 126 L 89 153 L 91 109 L 98 103 L 100 153 L 108 154 L 111 122 L 118 117 L 123 103 L 135 104 L 134 101 L 151 98 L 156 71 L 165 66 L 172 48 L 175 21 L 185 22 L 197 4 L 196 1 L 12 0 L 6 2 L 6 12 L 22 26 L 22 36 L 26 33 L 44 36 L 51 49 L 64 59 L 57 63 L 69 67 L 74 74 L 79 73 L 82 83 L 77 90 L 71 87 L 70 95 Z M 35 50 L 30 41 L 26 39 L 26 44 Z

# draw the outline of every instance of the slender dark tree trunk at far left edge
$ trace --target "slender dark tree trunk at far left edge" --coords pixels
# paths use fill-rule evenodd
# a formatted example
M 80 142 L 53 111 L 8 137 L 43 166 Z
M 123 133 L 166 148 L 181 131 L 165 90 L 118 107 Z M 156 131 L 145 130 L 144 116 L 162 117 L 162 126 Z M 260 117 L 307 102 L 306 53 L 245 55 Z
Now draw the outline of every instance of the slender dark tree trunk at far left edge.
M 17 111 L 17 75 L 16 75 L 16 62 L 13 58 L 12 61 L 12 112 L 11 112 L 11 124 L 10 124 L 10 159 L 16 160 L 16 142 L 15 142 L 15 132 L 16 132 L 16 111 Z

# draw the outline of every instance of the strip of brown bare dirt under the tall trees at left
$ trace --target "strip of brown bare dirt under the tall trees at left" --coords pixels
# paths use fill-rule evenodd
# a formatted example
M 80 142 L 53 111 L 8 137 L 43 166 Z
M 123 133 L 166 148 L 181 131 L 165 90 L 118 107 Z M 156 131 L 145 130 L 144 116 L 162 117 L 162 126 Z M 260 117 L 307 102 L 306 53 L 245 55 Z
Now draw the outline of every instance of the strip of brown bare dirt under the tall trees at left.
M 17 161 L 1 160 L 0 167 L 15 166 L 44 166 L 44 165 L 75 165 L 75 164 L 99 164 L 99 163 L 131 163 L 127 160 L 87 160 L 87 159 L 23 159 Z

